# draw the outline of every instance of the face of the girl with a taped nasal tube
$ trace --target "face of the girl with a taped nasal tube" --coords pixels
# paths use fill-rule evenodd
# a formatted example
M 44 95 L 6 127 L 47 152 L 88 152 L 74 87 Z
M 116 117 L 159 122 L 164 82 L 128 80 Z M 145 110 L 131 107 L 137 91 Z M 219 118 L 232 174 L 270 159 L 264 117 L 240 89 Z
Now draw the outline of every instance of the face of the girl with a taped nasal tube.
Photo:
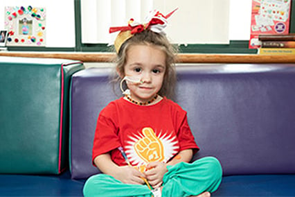
M 132 99 L 150 101 L 162 87 L 166 72 L 166 53 L 159 46 L 130 46 L 124 72 L 125 76 L 141 79 L 141 83 L 127 82 Z

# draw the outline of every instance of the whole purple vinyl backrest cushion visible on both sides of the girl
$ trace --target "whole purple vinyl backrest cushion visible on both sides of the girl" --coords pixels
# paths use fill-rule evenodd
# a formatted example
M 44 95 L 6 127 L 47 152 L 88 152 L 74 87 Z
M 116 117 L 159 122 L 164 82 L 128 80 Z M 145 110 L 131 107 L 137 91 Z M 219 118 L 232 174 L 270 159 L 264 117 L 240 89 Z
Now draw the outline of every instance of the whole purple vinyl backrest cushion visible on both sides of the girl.
M 71 177 L 91 164 L 96 119 L 117 98 L 110 68 L 75 73 L 71 84 Z M 295 65 L 181 65 L 177 98 L 201 150 L 224 175 L 295 173 Z

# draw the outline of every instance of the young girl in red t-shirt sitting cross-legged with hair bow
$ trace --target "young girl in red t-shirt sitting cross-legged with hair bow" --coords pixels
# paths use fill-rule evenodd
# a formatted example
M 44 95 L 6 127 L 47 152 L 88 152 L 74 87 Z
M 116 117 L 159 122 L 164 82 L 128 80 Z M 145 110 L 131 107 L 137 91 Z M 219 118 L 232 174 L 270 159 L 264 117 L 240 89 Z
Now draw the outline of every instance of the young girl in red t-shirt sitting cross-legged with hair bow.
M 84 196 L 210 196 L 220 185 L 217 159 L 189 163 L 199 147 L 186 112 L 168 99 L 175 50 L 162 30 L 170 15 L 154 12 L 147 24 L 118 28 L 116 71 L 124 96 L 100 112 L 93 164 L 102 173 L 85 182 Z

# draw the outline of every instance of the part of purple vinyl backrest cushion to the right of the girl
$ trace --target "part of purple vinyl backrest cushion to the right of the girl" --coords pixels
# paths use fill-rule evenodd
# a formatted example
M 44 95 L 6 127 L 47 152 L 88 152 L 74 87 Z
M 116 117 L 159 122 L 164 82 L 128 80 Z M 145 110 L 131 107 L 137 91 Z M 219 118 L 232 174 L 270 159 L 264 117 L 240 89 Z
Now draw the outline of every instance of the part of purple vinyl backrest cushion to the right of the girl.
M 179 69 L 179 104 L 224 175 L 295 173 L 295 65 Z M 247 71 L 239 71 L 247 67 Z

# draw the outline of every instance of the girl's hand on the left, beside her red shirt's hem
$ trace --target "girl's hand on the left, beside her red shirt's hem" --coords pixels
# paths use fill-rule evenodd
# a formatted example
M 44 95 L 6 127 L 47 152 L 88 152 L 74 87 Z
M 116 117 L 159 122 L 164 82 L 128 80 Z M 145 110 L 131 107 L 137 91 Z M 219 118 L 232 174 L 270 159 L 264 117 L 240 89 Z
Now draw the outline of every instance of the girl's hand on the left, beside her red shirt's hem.
M 136 185 L 143 185 L 145 182 L 141 178 L 145 178 L 145 175 L 135 169 L 132 166 L 120 166 L 120 170 L 116 175 L 114 175 L 114 178 L 117 180 L 120 180 L 121 182 L 124 182 L 126 184 L 136 184 Z

